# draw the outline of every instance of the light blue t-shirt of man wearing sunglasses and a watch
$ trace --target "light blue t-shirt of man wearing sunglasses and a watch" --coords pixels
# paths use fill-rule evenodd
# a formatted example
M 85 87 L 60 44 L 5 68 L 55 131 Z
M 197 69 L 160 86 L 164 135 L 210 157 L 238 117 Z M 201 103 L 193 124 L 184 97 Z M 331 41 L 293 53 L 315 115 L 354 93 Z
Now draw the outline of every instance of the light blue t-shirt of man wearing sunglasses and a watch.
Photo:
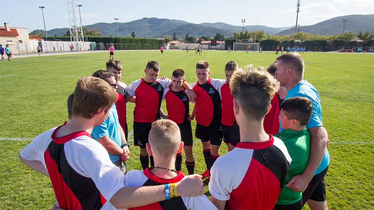
M 118 146 L 121 146 L 122 139 L 115 104 L 113 104 L 112 108 L 110 109 L 108 118 L 99 126 L 93 127 L 91 138 L 97 141 L 97 139 L 102 138 L 106 135 L 109 135 L 110 140 L 116 142 Z M 108 154 L 112 163 L 120 159 L 120 155 L 114 155 L 109 152 Z

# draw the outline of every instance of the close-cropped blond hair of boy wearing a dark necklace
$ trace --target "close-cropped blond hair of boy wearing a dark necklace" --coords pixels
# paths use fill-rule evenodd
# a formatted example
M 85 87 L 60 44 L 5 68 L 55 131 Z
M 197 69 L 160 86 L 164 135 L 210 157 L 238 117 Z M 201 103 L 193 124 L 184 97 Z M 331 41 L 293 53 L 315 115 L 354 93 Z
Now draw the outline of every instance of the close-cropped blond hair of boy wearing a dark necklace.
M 177 123 L 161 119 L 152 123 L 148 142 L 152 151 L 163 157 L 174 156 L 181 143 L 181 132 Z

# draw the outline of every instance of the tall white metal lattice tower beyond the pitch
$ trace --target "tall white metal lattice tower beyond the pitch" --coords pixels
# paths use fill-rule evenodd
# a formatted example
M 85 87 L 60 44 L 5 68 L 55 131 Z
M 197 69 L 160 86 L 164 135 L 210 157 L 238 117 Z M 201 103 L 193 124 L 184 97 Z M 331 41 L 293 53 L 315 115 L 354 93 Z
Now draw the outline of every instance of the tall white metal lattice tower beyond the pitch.
M 77 0 L 68 0 L 69 10 L 69 26 L 70 26 L 70 41 L 74 42 L 79 51 L 83 49 L 83 30 L 82 22 L 80 21 L 80 12 Z

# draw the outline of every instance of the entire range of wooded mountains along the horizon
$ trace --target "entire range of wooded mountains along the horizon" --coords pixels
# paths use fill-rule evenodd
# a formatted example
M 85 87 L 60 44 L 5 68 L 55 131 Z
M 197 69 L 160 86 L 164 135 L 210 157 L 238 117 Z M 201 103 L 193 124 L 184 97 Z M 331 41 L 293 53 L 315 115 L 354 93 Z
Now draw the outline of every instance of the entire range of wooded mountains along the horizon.
M 352 31 L 353 33 L 358 33 L 360 30 L 366 31 L 367 28 L 373 28 L 374 15 L 346 15 L 331 18 L 314 25 L 300 26 L 299 30 L 322 35 L 341 34 L 343 32 L 343 18 L 348 19 L 344 32 Z M 126 37 L 131 35 L 132 31 L 134 31 L 137 37 L 145 37 L 145 24 L 147 25 L 147 38 L 162 38 L 163 35 L 173 35 L 174 33 L 176 33 L 177 37 L 181 38 L 184 38 L 187 33 L 189 36 L 193 37 L 214 37 L 217 33 L 221 33 L 225 37 L 232 37 L 234 31 L 242 30 L 241 26 L 234 26 L 223 22 L 193 24 L 175 19 L 148 18 L 124 23 L 118 22 L 118 34 L 121 37 Z M 99 32 L 104 36 L 117 36 L 116 22 L 101 22 L 86 25 L 86 27 L 88 27 L 88 29 L 98 28 Z M 248 29 L 248 31 L 256 29 L 264 30 L 267 34 L 289 35 L 295 33 L 294 27 L 295 26 L 272 28 L 264 25 L 246 25 L 244 29 Z M 65 34 L 68 30 L 69 28 L 55 28 L 47 31 L 47 33 L 59 36 Z

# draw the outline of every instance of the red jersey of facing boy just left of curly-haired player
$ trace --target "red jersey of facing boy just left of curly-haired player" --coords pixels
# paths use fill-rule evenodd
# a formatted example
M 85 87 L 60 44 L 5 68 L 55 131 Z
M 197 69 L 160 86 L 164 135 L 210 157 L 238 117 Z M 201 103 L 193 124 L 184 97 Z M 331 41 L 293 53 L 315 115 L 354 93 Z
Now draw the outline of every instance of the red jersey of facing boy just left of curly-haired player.
M 221 123 L 226 126 L 232 126 L 235 122 L 234 115 L 234 96 L 230 93 L 229 82 L 226 82 L 220 86 L 218 92 L 221 96 L 222 102 L 222 118 Z

